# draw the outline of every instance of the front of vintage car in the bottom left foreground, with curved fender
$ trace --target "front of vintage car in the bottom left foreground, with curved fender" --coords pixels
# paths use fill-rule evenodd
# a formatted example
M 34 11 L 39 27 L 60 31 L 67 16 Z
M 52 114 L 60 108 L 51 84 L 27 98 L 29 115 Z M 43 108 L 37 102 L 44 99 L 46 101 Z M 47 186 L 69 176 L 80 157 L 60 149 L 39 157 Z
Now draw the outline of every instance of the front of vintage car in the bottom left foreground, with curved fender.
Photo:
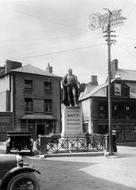
M 40 190 L 40 172 L 18 154 L 0 154 L 0 190 Z

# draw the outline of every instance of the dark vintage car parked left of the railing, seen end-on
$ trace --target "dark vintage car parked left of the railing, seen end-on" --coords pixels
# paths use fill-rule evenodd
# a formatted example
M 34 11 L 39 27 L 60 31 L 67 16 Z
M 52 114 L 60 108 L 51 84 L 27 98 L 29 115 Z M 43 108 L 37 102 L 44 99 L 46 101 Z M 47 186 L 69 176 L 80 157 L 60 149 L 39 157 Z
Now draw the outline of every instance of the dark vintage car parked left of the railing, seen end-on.
M 6 153 L 29 151 L 33 152 L 33 139 L 28 131 L 8 131 L 7 140 L 5 142 Z

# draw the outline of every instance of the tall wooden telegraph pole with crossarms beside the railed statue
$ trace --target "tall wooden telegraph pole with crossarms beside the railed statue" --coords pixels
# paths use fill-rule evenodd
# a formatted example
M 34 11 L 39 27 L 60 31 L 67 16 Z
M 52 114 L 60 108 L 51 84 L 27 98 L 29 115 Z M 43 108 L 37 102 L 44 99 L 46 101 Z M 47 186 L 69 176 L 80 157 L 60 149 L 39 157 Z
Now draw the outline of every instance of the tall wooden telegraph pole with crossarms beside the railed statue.
M 112 149 L 112 101 L 111 101 L 111 44 L 112 40 L 111 37 L 115 37 L 114 35 L 111 35 L 111 15 L 112 12 L 109 9 L 105 9 L 108 11 L 108 26 L 107 30 L 104 31 L 106 35 L 104 37 L 107 37 L 107 46 L 108 46 L 108 134 L 109 134 L 109 154 L 113 154 Z

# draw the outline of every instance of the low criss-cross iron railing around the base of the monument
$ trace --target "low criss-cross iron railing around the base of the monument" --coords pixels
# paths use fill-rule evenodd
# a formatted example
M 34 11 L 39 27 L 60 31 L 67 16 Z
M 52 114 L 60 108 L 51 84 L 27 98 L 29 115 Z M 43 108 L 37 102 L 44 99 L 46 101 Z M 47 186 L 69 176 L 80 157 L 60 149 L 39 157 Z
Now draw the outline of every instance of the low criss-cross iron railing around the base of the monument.
M 41 136 L 38 149 L 41 153 L 63 153 L 103 151 L 107 149 L 107 135 L 93 135 L 86 137 L 54 138 Z

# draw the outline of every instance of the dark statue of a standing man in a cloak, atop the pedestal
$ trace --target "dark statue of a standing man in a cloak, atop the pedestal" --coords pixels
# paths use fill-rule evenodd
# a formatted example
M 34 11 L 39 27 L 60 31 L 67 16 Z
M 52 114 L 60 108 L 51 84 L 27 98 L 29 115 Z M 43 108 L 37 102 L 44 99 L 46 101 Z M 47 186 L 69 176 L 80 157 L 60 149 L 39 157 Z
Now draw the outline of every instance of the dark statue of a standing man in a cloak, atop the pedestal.
M 77 76 L 72 73 L 72 69 L 68 70 L 68 74 L 63 78 L 63 103 L 65 106 L 78 105 L 78 88 L 79 82 Z

